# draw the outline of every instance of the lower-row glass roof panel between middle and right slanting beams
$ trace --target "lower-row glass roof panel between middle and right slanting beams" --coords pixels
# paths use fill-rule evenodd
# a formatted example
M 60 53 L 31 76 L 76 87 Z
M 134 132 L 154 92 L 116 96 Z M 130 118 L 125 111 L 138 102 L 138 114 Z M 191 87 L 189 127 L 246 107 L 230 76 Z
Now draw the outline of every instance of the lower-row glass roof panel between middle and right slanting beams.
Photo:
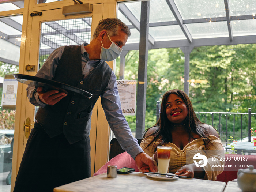
M 227 22 L 207 22 L 207 23 L 191 23 L 186 24 L 192 38 L 214 38 L 228 37 Z

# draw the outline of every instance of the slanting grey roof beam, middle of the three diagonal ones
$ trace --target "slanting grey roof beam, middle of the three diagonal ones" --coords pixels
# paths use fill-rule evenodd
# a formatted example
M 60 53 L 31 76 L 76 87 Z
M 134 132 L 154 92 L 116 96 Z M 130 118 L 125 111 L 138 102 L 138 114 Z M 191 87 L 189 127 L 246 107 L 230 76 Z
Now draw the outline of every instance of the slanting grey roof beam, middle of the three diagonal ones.
M 172 11 L 174 17 L 176 18 L 181 30 L 183 31 L 183 33 L 187 37 L 188 42 L 191 43 L 192 42 L 192 36 L 189 33 L 189 30 L 188 30 L 187 26 L 183 23 L 182 16 L 181 16 L 180 12 L 178 11 L 178 8 L 176 7 L 176 4 L 174 3 L 173 0 L 166 0 L 166 2 L 169 5 L 169 8 Z

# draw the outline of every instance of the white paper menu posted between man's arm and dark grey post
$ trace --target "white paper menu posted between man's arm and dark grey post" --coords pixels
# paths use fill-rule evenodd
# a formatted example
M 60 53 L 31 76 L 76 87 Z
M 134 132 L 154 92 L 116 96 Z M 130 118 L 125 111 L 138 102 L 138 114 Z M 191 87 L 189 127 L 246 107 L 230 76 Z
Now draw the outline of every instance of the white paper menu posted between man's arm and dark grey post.
M 124 115 L 135 115 L 136 86 L 136 80 L 117 80 L 117 87 Z

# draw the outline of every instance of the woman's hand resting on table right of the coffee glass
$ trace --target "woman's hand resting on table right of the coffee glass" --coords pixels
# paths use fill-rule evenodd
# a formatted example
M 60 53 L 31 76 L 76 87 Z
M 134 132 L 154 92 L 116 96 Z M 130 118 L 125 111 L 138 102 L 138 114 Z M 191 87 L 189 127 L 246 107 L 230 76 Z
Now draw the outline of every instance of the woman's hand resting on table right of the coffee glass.
M 196 167 L 195 164 L 189 164 L 181 167 L 175 174 L 187 176 L 188 178 L 194 178 L 195 176 L 204 178 L 205 171 L 202 167 Z

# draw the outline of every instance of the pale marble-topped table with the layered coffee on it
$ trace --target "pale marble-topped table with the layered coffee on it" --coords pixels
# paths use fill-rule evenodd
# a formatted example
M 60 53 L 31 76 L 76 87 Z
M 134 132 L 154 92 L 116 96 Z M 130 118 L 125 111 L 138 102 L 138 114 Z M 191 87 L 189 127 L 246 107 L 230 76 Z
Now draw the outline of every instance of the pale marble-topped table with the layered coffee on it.
M 117 174 L 108 178 L 106 173 L 54 188 L 54 192 L 223 192 L 225 182 L 195 178 L 157 180 L 140 172 Z

